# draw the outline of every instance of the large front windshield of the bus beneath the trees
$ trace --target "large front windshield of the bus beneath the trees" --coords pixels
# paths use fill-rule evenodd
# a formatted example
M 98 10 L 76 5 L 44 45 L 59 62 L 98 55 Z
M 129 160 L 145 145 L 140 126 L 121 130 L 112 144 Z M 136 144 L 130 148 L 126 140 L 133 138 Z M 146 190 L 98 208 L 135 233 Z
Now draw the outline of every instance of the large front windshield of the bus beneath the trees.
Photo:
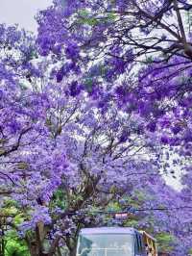
M 80 235 L 77 256 L 133 256 L 130 234 Z

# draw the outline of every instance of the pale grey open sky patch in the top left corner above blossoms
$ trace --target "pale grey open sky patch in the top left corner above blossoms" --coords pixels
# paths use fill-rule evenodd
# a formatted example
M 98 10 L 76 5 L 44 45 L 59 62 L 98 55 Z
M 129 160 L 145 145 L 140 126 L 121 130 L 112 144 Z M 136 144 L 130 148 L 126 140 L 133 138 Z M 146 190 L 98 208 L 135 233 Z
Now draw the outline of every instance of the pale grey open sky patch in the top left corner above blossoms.
M 36 32 L 34 16 L 51 3 L 52 0 L 0 0 L 0 23 L 16 23 L 21 28 Z

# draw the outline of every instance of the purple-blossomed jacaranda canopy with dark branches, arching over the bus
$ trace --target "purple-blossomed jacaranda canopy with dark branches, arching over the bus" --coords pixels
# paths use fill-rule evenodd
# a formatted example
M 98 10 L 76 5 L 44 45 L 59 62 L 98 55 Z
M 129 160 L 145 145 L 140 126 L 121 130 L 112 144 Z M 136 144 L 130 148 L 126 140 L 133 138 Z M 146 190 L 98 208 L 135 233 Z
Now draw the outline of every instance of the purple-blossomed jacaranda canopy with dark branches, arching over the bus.
M 12 199 L 20 222 L 8 224 L 32 256 L 74 256 L 80 228 L 108 209 L 189 253 L 191 9 L 55 0 L 36 38 L 0 26 L 1 206 Z M 185 163 L 175 192 L 163 170 Z

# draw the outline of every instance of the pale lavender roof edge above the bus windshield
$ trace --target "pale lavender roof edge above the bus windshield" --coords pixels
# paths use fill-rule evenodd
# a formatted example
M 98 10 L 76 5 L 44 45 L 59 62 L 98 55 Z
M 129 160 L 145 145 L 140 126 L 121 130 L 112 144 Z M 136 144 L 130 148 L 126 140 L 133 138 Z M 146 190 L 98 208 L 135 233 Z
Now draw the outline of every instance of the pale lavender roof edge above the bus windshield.
M 83 228 L 80 234 L 135 234 L 136 230 L 132 227 L 96 227 Z

